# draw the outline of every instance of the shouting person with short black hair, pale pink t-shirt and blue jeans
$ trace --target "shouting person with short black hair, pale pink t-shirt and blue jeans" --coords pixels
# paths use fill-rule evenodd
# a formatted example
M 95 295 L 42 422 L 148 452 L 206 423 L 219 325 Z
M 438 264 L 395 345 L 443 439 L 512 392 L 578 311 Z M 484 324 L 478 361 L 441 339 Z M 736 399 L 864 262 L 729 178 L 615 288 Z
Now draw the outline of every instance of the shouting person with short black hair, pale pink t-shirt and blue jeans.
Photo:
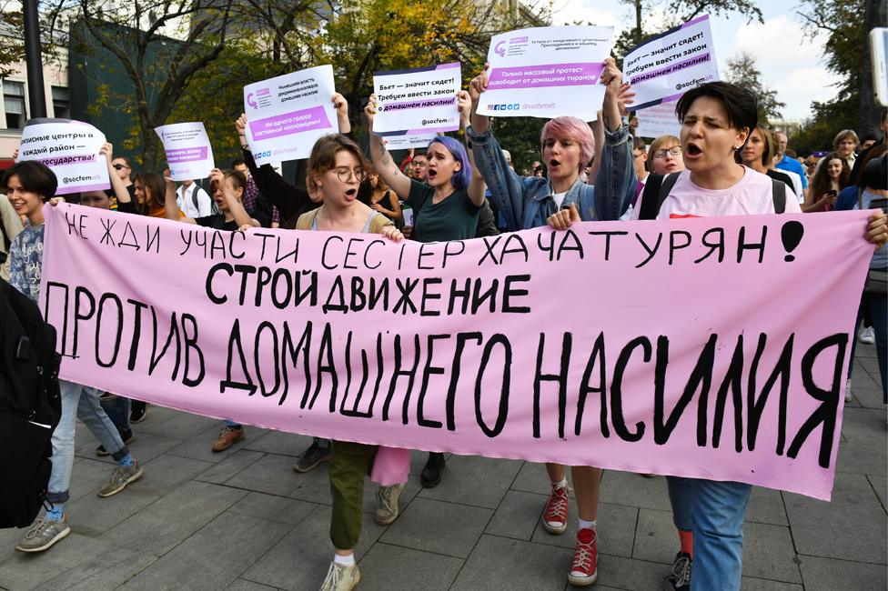
M 688 170 L 678 175 L 664 201 L 651 195 L 651 205 L 646 207 L 649 196 L 642 195 L 635 209 L 639 219 L 800 211 L 795 200 L 785 195 L 780 203 L 772 179 L 735 162 L 734 155 L 757 124 L 757 99 L 750 91 L 722 82 L 706 83 L 685 93 L 676 113 Z M 883 214 L 871 216 L 866 235 L 871 242 L 884 244 L 888 226 Z M 740 589 L 742 524 L 752 486 L 674 476 L 668 483 L 675 525 L 692 535 L 680 536 L 681 551 L 667 584 L 686 589 L 690 579 L 692 591 Z

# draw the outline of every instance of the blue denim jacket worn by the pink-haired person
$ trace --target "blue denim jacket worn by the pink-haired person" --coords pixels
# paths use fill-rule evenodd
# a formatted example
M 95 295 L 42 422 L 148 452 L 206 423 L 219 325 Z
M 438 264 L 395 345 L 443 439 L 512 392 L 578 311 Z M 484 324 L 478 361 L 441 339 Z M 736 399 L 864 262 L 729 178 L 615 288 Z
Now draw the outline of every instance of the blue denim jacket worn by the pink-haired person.
M 469 126 L 466 135 L 471 142 L 475 165 L 488 185 L 490 196 L 500 207 L 507 229 L 515 231 L 546 225 L 546 218 L 558 209 L 551 196 L 549 179 L 518 175 L 506 162 L 500 143 L 489 129 L 483 134 L 475 134 Z M 587 185 L 577 178 L 562 203 L 562 206 L 577 205 L 584 222 L 619 219 L 635 195 L 637 179 L 629 125 L 621 125 L 614 132 L 605 129 L 604 140 L 595 185 Z

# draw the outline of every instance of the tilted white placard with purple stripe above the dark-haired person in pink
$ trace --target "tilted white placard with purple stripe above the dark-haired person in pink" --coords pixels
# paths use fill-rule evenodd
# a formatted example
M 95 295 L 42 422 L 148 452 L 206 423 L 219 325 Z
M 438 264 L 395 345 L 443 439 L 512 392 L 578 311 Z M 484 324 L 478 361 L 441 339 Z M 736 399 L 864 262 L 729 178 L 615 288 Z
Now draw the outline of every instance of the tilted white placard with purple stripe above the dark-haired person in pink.
M 691 86 L 719 79 L 709 15 L 702 15 L 638 45 L 623 59 L 634 108 L 677 100 Z

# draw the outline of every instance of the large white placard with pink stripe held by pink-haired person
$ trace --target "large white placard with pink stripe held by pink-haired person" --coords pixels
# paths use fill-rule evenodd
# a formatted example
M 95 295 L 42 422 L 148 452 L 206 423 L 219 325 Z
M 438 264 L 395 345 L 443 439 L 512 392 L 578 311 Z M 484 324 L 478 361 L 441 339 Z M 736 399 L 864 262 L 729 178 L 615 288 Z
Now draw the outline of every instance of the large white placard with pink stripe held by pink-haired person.
M 598 80 L 612 39 L 612 26 L 543 26 L 494 35 L 478 113 L 594 121 L 604 101 Z

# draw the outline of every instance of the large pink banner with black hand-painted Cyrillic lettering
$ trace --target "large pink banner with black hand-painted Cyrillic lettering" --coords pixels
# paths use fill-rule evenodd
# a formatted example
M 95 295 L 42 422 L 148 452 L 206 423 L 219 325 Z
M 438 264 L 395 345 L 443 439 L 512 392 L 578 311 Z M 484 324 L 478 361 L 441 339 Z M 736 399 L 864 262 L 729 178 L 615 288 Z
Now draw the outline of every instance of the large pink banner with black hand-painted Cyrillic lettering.
M 428 245 L 45 215 L 68 380 L 294 433 L 830 498 L 865 212 Z

